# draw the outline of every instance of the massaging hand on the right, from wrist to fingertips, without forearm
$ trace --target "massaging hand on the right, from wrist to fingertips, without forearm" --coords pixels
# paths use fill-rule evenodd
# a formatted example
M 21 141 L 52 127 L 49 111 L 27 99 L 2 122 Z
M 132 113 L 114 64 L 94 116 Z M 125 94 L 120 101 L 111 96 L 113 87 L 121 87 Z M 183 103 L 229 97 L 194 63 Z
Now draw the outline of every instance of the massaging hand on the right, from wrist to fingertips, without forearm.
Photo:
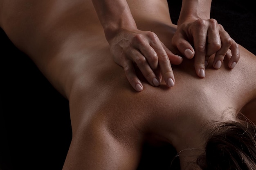
M 233 69 L 239 60 L 238 44 L 214 19 L 183 22 L 178 25 L 172 44 L 188 59 L 194 57 L 195 72 L 201 78 L 205 77 L 205 67 L 212 54 L 215 54 L 213 67 L 216 69 L 222 65 L 229 49 L 232 53 L 229 68 Z

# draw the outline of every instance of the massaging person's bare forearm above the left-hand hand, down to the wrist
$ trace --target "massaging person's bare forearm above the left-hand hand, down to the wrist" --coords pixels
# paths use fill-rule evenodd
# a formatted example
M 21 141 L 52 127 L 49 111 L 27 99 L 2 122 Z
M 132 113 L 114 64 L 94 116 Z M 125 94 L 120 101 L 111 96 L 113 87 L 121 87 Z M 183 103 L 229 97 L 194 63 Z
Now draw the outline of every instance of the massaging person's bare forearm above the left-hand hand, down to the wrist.
M 112 39 L 120 29 L 137 28 L 126 0 L 92 0 L 92 2 L 107 40 Z

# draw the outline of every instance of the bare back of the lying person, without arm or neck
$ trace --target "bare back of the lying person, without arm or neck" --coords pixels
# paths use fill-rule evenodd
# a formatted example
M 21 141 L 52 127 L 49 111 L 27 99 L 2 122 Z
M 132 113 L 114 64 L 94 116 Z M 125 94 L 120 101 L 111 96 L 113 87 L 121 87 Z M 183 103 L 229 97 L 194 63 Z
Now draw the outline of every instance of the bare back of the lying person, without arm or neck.
M 33 4 L 33 1 L 27 2 Z M 112 61 L 108 43 L 91 2 L 85 2 L 70 1 L 66 6 L 58 1 L 41 5 L 40 3 L 46 2 L 36 2 L 36 6 L 32 5 L 30 9 L 35 14 L 31 16 L 31 20 L 34 18 L 37 24 L 33 26 L 37 29 L 31 26 L 32 21 L 25 22 L 17 30 L 14 30 L 15 27 L 10 28 L 7 23 L 3 24 L 13 42 L 29 54 L 54 87 L 70 100 L 74 137 L 94 118 L 106 121 L 103 124 L 106 123 L 112 133 L 124 140 L 124 143 L 127 142 L 128 135 L 134 133 L 134 126 L 147 133 L 162 135 L 159 129 L 179 118 L 188 118 L 184 117 L 187 113 L 203 115 L 206 112 L 223 112 L 227 107 L 238 112 L 255 97 L 255 82 L 246 86 L 243 83 L 244 79 L 254 81 L 255 59 L 254 55 L 243 48 L 241 59 L 234 70 L 229 70 L 225 65 L 220 70 L 214 70 L 209 63 L 207 77 L 201 79 L 193 72 L 193 60 L 184 59 L 181 65 L 173 67 L 176 80 L 174 87 L 168 88 L 164 83 L 160 87 L 152 87 L 144 81 L 144 91 L 135 92 L 126 80 L 123 69 Z M 137 11 L 135 9 L 139 7 L 142 6 L 134 4 L 131 11 Z M 156 13 L 157 9 L 161 12 L 151 20 L 148 11 L 153 8 Z M 162 5 L 159 8 L 147 8 L 145 15 L 137 14 L 135 20 L 139 28 L 154 31 L 171 48 L 169 40 L 175 31 L 175 25 L 166 17 L 168 11 L 164 13 L 162 9 Z M 27 6 L 24 11 L 26 10 Z M 29 15 L 18 17 L 24 21 Z M 45 17 L 47 15 L 52 17 Z M 20 38 L 13 37 L 13 33 L 20 33 Z M 243 91 L 240 90 L 242 86 Z M 161 121 L 161 124 L 152 126 L 152 121 Z M 144 135 L 135 134 L 138 138 Z M 137 142 L 131 138 L 129 142 L 132 141 Z M 142 142 L 141 139 L 138 142 Z

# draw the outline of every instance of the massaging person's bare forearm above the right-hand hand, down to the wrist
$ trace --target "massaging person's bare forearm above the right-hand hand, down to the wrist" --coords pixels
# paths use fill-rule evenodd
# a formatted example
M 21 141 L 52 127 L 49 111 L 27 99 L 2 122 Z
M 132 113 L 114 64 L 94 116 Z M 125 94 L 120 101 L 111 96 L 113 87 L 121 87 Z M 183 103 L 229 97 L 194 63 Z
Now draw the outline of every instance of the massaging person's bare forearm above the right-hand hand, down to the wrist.
M 178 25 L 195 18 L 210 19 L 211 0 L 182 0 Z

